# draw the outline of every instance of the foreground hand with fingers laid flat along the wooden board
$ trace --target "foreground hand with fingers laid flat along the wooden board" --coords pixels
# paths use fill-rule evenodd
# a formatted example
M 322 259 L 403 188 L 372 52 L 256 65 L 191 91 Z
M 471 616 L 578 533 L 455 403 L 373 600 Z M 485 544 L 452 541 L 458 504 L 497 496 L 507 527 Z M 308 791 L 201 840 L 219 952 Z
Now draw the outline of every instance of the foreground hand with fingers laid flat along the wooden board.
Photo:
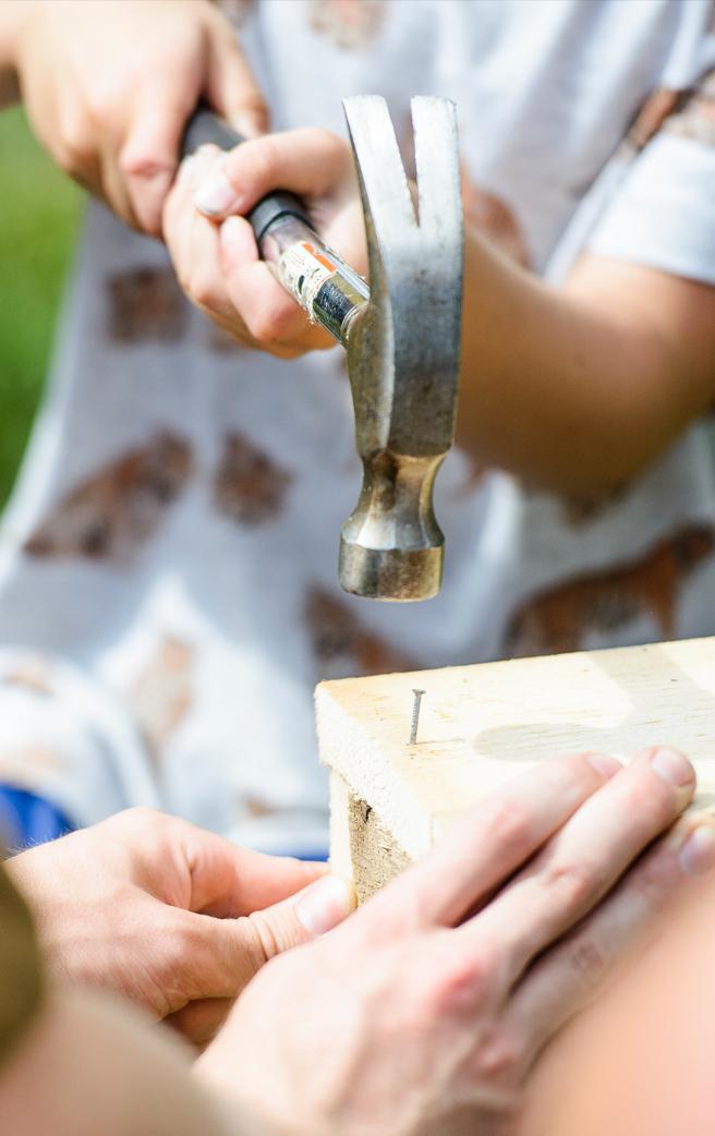
M 656 786 L 651 751 L 575 811 L 582 759 L 485 802 L 345 925 L 262 970 L 199 1069 L 283 1136 L 514 1136 L 524 1121 L 532 1136 L 539 1054 L 700 870 L 680 843 L 691 820 L 626 870 L 689 796 L 667 753 L 676 787 Z

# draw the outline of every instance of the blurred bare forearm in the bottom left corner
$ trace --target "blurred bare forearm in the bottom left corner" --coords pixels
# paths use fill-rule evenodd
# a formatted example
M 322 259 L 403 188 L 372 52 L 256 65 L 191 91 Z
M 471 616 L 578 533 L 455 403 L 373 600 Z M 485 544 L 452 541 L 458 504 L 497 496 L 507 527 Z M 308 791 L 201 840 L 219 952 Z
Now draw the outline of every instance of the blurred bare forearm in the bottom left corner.
M 54 993 L 0 1074 L 12 1136 L 258 1136 L 192 1076 L 178 1043 L 124 1006 Z

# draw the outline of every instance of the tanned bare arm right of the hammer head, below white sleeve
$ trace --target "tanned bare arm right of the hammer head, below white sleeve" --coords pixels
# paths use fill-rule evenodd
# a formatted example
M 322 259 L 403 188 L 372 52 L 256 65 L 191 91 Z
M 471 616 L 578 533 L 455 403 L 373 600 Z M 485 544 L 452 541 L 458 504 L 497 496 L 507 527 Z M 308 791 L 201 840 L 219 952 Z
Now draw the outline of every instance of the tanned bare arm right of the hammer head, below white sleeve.
M 712 400 L 712 293 L 594 258 L 555 289 L 468 234 L 462 445 L 560 492 L 617 486 Z

